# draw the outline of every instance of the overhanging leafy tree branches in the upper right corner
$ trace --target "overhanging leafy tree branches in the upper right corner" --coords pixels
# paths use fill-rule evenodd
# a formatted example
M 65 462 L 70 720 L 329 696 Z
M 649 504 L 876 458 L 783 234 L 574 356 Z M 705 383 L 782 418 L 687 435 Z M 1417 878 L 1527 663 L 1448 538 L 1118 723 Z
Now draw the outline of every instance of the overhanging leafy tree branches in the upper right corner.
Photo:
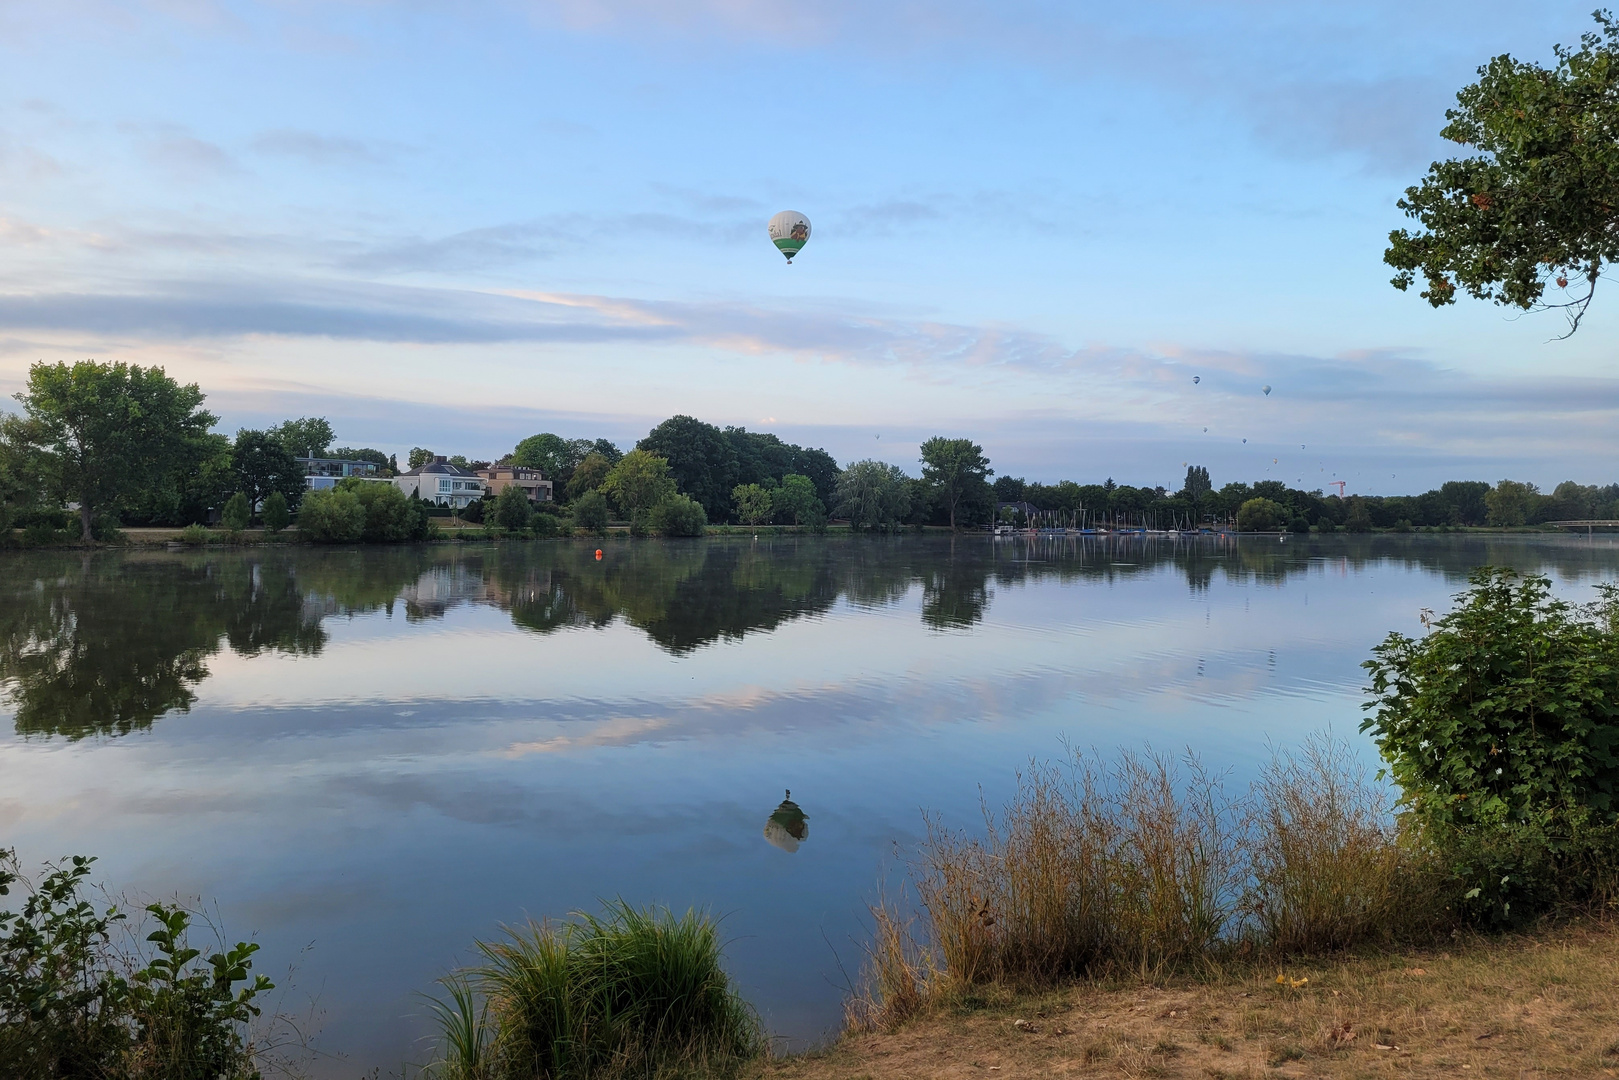
M 1501 55 L 1457 92 L 1441 134 L 1480 151 L 1434 162 L 1399 207 L 1423 230 L 1389 233 L 1383 259 L 1434 308 L 1477 300 L 1561 309 L 1574 334 L 1619 256 L 1619 24 L 1557 45 L 1543 68 Z M 1572 282 L 1572 285 L 1570 285 Z M 1548 287 L 1554 298 L 1548 300 Z M 1567 337 L 1567 335 L 1566 335 Z

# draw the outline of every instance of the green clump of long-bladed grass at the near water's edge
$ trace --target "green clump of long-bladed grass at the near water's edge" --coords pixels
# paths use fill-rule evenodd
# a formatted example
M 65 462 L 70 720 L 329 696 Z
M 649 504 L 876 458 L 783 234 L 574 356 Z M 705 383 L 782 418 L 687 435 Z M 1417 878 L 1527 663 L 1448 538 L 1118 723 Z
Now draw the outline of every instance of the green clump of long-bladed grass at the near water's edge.
M 704 913 L 615 902 L 478 950 L 436 1009 L 445 1080 L 724 1075 L 763 1051 Z

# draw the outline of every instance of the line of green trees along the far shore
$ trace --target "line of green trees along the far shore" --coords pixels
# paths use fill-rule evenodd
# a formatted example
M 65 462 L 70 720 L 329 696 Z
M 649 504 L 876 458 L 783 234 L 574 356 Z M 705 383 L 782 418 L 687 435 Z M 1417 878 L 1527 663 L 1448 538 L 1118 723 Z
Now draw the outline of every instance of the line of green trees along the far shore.
M 699 536 L 717 526 L 853 531 L 984 528 L 1234 528 L 1336 533 L 1522 528 L 1619 518 L 1619 484 L 1566 481 L 1549 492 L 1502 479 L 1451 481 L 1420 495 L 1334 495 L 1282 481 L 1214 487 L 1192 465 L 1179 489 L 1046 484 L 996 476 L 983 447 L 937 436 L 916 474 L 873 458 L 839 466 L 821 449 L 774 434 L 674 416 L 623 452 L 609 439 L 541 432 L 495 461 L 445 455 L 473 476 L 491 466 L 534 470 L 554 499 L 516 486 L 439 505 L 389 481 L 397 455 L 335 447 L 324 418 L 288 419 L 235 437 L 214 431 L 202 390 L 160 368 L 81 361 L 34 364 L 21 415 L 0 418 L 0 541 L 24 546 L 107 542 L 130 528 L 183 529 L 186 542 L 241 541 L 295 529 L 312 542 L 403 542 L 440 534 Z M 363 463 L 368 476 L 309 489 L 316 460 Z M 434 461 L 414 447 L 406 470 Z

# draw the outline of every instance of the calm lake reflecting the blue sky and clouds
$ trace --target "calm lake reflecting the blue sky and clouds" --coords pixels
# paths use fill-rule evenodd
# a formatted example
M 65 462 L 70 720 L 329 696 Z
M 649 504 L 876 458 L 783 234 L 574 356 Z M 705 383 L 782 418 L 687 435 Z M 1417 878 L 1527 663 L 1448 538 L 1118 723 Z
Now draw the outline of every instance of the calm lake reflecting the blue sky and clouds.
M 0 845 L 217 905 L 321 1077 L 421 1061 L 473 939 L 612 897 L 722 913 L 803 1043 L 923 811 L 971 826 L 1065 742 L 1371 761 L 1383 635 L 1480 563 L 1582 601 L 1619 568 L 1604 536 L 596 547 L 0 554 Z M 766 837 L 787 789 L 801 840 Z

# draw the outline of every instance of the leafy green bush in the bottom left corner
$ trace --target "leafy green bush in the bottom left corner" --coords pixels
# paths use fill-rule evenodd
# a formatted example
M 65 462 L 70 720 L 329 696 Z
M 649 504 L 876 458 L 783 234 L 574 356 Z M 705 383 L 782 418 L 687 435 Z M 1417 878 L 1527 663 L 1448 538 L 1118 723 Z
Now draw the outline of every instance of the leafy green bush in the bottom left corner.
M 256 1080 L 246 1027 L 274 989 L 249 976 L 259 947 L 238 942 L 199 963 L 189 913 L 167 904 L 146 908 L 155 947 L 113 944 L 126 916 L 84 899 L 92 861 L 47 866 L 29 887 L 16 853 L 0 850 L 0 895 L 24 889 L 21 910 L 0 910 L 0 1075 Z

